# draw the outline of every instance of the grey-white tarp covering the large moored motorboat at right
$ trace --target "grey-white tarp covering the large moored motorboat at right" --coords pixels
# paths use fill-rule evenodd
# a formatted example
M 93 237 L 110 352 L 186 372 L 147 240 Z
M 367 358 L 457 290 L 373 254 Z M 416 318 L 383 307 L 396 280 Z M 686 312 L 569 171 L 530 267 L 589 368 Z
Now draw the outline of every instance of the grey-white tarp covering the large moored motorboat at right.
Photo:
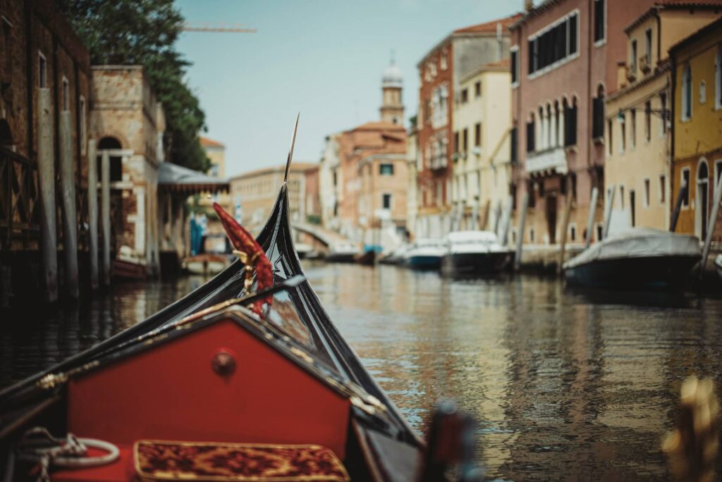
M 661 229 L 632 228 L 597 242 L 564 263 L 563 268 L 574 268 L 597 260 L 656 256 L 701 256 L 700 240 L 696 236 Z

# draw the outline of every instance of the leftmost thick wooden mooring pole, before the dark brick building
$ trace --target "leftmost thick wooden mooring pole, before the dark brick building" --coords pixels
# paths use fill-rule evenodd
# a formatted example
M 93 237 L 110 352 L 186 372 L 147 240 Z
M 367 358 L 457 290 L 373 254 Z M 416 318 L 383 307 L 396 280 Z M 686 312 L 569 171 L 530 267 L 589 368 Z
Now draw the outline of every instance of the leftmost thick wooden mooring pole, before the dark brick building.
M 40 256 L 46 302 L 58 299 L 58 223 L 55 197 L 55 149 L 50 89 L 38 89 L 38 183 L 40 184 Z

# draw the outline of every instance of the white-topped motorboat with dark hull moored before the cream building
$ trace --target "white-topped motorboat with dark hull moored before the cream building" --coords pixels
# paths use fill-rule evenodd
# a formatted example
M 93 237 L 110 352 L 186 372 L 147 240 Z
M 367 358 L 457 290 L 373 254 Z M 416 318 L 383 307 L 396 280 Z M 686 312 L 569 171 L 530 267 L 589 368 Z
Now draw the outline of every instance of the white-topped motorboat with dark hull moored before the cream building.
M 509 265 L 513 254 L 490 231 L 454 231 L 444 241 L 446 252 L 441 258 L 444 276 L 498 273 Z

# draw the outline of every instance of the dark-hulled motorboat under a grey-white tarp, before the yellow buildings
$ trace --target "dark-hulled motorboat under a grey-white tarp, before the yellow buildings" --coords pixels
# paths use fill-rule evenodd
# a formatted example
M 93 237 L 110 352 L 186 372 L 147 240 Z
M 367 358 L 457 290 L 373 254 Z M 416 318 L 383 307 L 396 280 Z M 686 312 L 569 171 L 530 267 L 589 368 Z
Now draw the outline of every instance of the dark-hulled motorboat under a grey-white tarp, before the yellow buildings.
M 648 288 L 683 284 L 700 258 L 697 237 L 640 227 L 596 242 L 562 268 L 573 284 Z

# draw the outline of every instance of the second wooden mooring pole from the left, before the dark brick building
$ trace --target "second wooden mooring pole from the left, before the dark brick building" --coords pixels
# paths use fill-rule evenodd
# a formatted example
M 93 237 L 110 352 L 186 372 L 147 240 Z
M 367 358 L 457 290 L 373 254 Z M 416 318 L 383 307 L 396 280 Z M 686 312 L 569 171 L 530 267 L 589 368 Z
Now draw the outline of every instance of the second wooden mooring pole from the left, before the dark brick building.
M 66 294 L 78 297 L 78 219 L 76 213 L 73 162 L 72 119 L 70 111 L 60 113 L 60 189 L 63 201 L 63 253 Z

